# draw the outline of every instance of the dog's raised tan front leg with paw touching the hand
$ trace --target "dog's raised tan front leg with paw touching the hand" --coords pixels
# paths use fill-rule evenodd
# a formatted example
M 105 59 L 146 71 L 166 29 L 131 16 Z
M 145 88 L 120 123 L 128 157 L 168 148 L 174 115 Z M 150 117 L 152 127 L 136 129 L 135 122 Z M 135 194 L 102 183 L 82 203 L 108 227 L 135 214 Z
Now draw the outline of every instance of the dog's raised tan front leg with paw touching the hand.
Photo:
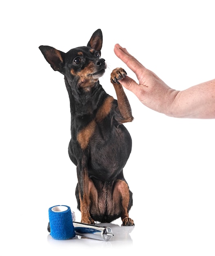
M 133 121 L 129 100 L 119 82 L 120 79 L 125 78 L 126 74 L 126 71 L 122 67 L 115 68 L 111 73 L 111 83 L 114 86 L 117 95 L 118 108 L 122 115 L 122 120 L 120 120 L 121 123 Z

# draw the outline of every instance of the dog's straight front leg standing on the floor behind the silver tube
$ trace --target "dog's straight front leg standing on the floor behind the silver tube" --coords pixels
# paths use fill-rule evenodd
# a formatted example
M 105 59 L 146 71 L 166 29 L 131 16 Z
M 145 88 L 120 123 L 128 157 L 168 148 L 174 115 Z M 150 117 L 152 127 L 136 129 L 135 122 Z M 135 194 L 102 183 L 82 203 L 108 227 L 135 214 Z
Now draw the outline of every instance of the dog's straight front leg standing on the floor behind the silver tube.
M 85 158 L 86 156 L 82 158 L 82 161 L 77 166 L 81 222 L 87 224 L 94 224 L 94 220 L 90 216 L 89 176 L 87 161 Z

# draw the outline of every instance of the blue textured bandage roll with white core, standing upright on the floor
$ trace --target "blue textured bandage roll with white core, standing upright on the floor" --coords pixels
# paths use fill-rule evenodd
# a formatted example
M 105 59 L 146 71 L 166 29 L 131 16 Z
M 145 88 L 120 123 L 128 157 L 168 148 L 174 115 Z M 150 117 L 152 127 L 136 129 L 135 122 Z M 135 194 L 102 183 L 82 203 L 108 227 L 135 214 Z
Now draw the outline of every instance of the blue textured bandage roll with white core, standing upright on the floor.
M 67 240 L 75 237 L 73 215 L 66 205 L 56 205 L 49 208 L 50 235 L 57 240 Z

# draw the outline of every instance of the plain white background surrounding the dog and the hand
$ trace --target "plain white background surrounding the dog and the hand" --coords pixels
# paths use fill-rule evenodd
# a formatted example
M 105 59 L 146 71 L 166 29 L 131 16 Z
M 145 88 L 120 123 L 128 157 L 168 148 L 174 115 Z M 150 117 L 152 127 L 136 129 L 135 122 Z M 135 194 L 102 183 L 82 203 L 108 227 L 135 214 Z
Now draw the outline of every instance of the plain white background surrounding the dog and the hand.
M 47 232 L 48 209 L 56 204 L 69 205 L 80 221 L 76 169 L 67 153 L 69 97 L 63 76 L 38 47 L 67 52 L 86 45 L 100 28 L 106 92 L 115 97 L 109 82 L 115 67 L 136 79 L 115 56 L 115 43 L 183 90 L 215 78 L 214 3 L 11 0 L 1 3 L 0 12 L 2 255 L 72 255 L 72 243 L 53 245 Z M 135 119 L 126 124 L 133 149 L 124 176 L 133 192 L 135 228 L 132 243 L 126 247 L 128 241 L 119 240 L 117 249 L 129 253 L 140 246 L 146 256 L 215 255 L 215 120 L 167 117 L 126 94 Z M 108 249 L 102 244 L 96 252 Z M 109 253 L 115 250 L 112 244 Z

